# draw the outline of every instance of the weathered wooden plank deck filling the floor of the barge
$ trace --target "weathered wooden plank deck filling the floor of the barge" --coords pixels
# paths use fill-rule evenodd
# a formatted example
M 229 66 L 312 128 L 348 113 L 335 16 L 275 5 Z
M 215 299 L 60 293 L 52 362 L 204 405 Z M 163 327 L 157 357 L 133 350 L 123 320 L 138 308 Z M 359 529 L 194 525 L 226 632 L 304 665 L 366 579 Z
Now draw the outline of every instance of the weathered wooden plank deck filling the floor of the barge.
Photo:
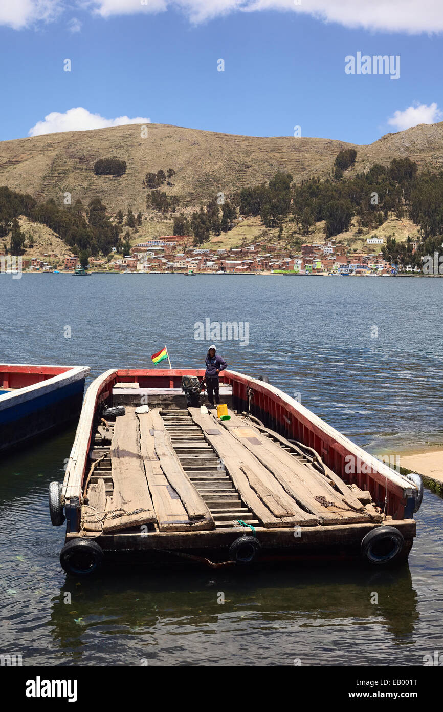
M 272 431 L 233 412 L 220 421 L 199 408 L 164 417 L 157 408 L 138 415 L 127 408 L 111 431 L 109 464 L 95 471 L 85 493 L 85 535 L 143 524 L 159 533 L 197 533 L 243 518 L 276 529 L 383 519 L 365 493 L 358 496 L 329 468 L 319 472 L 282 437 L 272 439 Z M 214 471 L 217 458 L 224 474 Z

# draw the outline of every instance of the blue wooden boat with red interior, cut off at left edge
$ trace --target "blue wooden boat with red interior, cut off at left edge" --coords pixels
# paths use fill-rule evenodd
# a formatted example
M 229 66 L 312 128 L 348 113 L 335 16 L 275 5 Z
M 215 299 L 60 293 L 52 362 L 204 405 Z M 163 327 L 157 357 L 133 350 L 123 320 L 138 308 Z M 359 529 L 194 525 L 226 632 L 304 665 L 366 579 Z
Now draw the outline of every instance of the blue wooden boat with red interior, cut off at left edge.
M 0 364 L 0 452 L 78 419 L 89 372 L 80 366 Z

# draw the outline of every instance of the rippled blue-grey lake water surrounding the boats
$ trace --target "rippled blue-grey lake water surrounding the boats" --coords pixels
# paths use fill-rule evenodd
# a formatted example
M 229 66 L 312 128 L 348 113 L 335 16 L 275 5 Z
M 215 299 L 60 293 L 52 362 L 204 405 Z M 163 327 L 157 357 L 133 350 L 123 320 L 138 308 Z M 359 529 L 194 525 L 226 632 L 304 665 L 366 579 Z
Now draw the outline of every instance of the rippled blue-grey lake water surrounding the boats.
M 442 296 L 443 280 L 418 278 L 0 275 L 0 353 L 88 365 L 95 377 L 151 367 L 166 344 L 173 367 L 203 367 L 212 341 L 194 338 L 196 323 L 247 324 L 247 344 L 218 342 L 229 367 L 267 375 L 358 444 L 397 454 L 443 443 Z M 443 650 L 443 500 L 433 493 L 400 570 L 138 565 L 76 584 L 60 568 L 63 527 L 47 505 L 73 436 L 1 459 L 0 654 L 23 665 L 410 665 Z

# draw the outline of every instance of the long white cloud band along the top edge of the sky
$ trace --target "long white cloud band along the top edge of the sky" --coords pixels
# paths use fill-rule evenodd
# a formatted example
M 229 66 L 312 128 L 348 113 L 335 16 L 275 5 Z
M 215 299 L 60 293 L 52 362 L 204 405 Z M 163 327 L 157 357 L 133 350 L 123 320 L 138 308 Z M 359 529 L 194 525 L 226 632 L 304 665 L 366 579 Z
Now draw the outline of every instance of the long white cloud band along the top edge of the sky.
M 235 11 L 279 10 L 309 15 L 345 27 L 420 34 L 443 31 L 441 0 L 75 0 L 104 18 L 181 10 L 191 22 L 203 22 Z M 144 3 L 144 4 L 142 4 Z M 20 29 L 55 19 L 63 0 L 1 0 L 0 25 Z M 66 6 L 66 5 L 65 5 Z

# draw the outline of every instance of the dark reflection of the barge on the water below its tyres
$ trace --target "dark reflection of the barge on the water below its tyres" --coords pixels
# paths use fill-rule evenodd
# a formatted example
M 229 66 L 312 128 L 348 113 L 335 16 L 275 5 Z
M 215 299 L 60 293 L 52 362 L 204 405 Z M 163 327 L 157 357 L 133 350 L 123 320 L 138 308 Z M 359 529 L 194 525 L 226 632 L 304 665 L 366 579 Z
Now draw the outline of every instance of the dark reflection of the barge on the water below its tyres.
M 78 664 L 96 659 L 90 645 L 104 637 L 102 654 L 114 649 L 117 664 L 137 665 L 142 657 L 149 664 L 205 664 L 209 655 L 220 663 L 229 656 L 244 664 L 292 664 L 298 656 L 304 664 L 319 657 L 353 664 L 356 656 L 368 660 L 363 640 L 355 640 L 362 634 L 386 636 L 389 644 L 381 642 L 380 655 L 412 642 L 419 616 L 407 567 L 395 573 L 297 568 L 236 574 L 118 567 L 82 582 L 70 605 L 63 603 L 73 589 L 68 581 L 51 602 L 53 646 Z M 378 605 L 370 603 L 373 592 Z M 220 595 L 224 604 L 218 603 Z M 265 638 L 265 647 L 280 649 L 279 660 L 266 661 L 262 643 L 260 652 L 253 649 L 257 637 Z M 226 646 L 222 656 L 218 644 Z M 325 649 L 330 651 L 323 659 Z

